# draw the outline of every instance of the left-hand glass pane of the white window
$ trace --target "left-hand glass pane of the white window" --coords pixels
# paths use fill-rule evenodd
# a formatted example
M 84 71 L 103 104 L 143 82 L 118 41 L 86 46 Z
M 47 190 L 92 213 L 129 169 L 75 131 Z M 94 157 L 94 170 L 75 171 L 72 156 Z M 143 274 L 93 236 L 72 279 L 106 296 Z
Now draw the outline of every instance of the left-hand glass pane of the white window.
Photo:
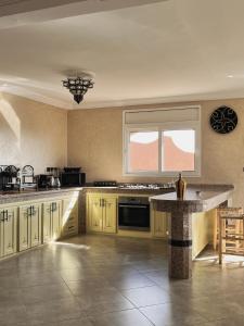
M 130 133 L 129 172 L 158 171 L 158 131 Z

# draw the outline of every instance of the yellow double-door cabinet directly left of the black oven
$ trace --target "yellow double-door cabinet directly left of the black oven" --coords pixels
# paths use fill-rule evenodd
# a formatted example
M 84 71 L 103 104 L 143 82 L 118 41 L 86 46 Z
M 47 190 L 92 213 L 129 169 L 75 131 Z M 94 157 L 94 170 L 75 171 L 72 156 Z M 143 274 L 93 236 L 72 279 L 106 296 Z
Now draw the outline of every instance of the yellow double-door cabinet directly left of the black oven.
M 117 229 L 117 197 L 88 195 L 87 229 L 115 234 Z

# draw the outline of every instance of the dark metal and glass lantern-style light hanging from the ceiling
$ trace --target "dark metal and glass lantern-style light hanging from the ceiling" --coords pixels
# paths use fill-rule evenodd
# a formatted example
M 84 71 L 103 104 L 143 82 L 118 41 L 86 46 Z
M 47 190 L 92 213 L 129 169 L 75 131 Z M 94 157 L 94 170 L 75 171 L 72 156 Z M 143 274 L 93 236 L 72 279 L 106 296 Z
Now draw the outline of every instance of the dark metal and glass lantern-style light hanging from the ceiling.
M 63 86 L 69 90 L 78 104 L 84 100 L 88 88 L 93 88 L 93 84 L 91 78 L 82 77 L 68 77 L 66 80 L 63 80 Z

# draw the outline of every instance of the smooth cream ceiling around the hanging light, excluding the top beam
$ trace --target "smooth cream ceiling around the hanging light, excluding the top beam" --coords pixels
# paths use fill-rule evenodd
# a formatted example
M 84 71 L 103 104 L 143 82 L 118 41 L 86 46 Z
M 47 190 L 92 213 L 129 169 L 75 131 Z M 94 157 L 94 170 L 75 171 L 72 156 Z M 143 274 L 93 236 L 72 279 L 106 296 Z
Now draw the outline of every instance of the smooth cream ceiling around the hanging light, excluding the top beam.
M 0 29 L 0 90 L 65 109 L 244 97 L 244 1 L 168 0 Z M 76 105 L 61 80 L 89 71 Z

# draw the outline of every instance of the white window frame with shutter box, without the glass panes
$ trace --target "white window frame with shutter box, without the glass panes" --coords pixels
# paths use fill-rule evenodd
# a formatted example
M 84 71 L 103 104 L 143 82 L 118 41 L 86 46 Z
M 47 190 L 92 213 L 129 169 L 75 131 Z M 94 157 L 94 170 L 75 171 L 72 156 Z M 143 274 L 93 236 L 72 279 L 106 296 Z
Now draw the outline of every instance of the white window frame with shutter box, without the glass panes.
M 182 108 L 182 106 L 181 106 Z M 181 109 L 180 108 L 180 109 Z M 191 106 L 185 106 L 191 108 Z M 194 106 L 198 108 L 198 106 Z M 182 108 L 183 109 L 183 108 Z M 158 109 L 162 110 L 162 109 Z M 165 110 L 168 110 L 165 109 Z M 143 111 L 143 110 L 138 110 Z M 146 110 L 149 111 L 149 110 Z M 155 111 L 155 109 L 153 110 Z M 162 171 L 162 134 L 167 130 L 194 130 L 195 131 L 195 171 L 182 171 L 185 177 L 200 177 L 201 176 L 201 110 L 198 121 L 183 121 L 183 122 L 164 122 L 164 123 L 149 123 L 149 124 L 125 124 L 125 114 L 128 111 L 124 111 L 123 120 L 123 176 L 131 177 L 176 177 L 179 172 L 177 171 Z M 158 131 L 158 171 L 141 171 L 129 172 L 129 135 L 130 133 L 139 131 Z

